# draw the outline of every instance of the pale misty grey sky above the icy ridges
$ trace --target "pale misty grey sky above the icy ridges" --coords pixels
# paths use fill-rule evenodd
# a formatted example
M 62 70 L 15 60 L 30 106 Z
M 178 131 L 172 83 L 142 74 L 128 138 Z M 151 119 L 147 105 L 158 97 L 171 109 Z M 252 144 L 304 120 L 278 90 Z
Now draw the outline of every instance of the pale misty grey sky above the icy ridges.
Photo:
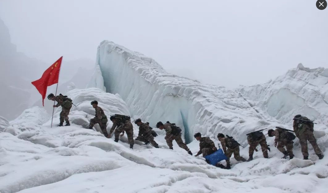
M 49 65 L 62 55 L 95 61 L 106 39 L 174 74 L 230 88 L 298 63 L 328 67 L 328 9 L 315 0 L 1 0 L 0 17 L 18 51 Z

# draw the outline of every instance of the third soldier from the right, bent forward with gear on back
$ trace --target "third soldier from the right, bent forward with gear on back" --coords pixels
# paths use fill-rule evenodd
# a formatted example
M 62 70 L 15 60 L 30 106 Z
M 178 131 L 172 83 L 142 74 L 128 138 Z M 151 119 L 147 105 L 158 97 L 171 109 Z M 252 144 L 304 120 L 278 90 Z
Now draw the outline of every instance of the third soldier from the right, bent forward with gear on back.
M 263 157 L 269 158 L 268 149 L 270 150 L 270 148 L 267 145 L 264 134 L 261 132 L 262 130 L 264 130 L 264 129 L 261 129 L 260 131 L 254 131 L 252 133 L 247 134 L 247 142 L 249 144 L 249 150 L 248 150 L 249 159 L 247 160 L 248 162 L 253 160 L 254 150 L 256 149 L 256 146 L 258 144 L 261 145 Z

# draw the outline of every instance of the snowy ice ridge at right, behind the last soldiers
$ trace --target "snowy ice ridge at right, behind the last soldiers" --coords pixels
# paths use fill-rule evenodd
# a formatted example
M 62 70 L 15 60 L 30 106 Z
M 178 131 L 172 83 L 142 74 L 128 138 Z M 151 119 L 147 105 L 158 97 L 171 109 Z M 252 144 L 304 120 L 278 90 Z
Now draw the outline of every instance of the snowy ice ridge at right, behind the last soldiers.
M 299 64 L 275 80 L 237 90 L 283 123 L 301 114 L 328 126 L 328 69 Z

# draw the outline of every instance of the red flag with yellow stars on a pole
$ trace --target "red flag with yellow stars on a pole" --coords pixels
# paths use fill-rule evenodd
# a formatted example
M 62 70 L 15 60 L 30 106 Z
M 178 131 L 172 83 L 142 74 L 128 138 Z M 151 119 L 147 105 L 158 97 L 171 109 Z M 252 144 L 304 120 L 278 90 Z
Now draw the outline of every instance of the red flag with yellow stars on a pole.
M 44 71 L 39 80 L 32 82 L 32 85 L 34 85 L 34 87 L 36 87 L 36 89 L 38 89 L 39 93 L 42 95 L 43 106 L 44 99 L 46 98 L 47 87 L 58 83 L 62 58 L 63 56 L 60 57 L 55 63 L 53 63 L 46 71 Z

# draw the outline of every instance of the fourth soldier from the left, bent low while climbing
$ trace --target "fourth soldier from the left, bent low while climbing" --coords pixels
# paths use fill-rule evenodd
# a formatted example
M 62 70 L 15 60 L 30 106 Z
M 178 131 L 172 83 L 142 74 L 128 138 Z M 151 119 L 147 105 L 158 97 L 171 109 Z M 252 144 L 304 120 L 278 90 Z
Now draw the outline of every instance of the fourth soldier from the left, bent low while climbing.
M 154 141 L 154 136 L 152 135 L 150 126 L 147 123 L 142 123 L 141 119 L 135 120 L 134 123 L 139 126 L 139 134 L 136 140 L 145 142 L 145 145 L 150 142 L 155 148 L 159 148 L 158 144 Z

